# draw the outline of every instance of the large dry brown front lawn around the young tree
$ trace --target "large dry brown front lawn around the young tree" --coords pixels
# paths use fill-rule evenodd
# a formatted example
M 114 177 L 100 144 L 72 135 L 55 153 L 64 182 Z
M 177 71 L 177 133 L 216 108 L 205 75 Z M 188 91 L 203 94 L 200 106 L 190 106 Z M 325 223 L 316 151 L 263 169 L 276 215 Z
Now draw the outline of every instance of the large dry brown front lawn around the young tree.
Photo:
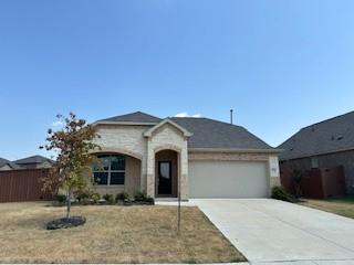
M 183 208 L 176 233 L 173 206 L 74 206 L 83 226 L 45 230 L 64 208 L 0 204 L 2 263 L 219 263 L 244 257 L 198 208 Z

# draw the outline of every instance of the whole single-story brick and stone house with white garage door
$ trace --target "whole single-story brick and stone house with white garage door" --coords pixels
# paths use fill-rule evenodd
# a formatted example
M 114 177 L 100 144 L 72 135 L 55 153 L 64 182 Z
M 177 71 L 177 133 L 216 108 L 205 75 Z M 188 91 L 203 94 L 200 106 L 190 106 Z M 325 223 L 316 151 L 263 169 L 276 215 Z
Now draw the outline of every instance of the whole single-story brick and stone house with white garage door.
M 267 198 L 279 184 L 279 150 L 240 126 L 209 118 L 160 119 L 140 112 L 94 123 L 101 194 Z

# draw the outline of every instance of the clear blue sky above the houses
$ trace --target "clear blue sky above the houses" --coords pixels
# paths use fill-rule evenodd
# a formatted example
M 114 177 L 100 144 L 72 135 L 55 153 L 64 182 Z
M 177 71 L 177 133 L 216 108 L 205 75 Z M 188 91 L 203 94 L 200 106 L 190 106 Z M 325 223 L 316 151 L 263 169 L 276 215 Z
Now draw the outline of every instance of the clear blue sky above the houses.
M 55 115 L 233 120 L 271 146 L 354 110 L 354 1 L 1 0 L 0 157 Z

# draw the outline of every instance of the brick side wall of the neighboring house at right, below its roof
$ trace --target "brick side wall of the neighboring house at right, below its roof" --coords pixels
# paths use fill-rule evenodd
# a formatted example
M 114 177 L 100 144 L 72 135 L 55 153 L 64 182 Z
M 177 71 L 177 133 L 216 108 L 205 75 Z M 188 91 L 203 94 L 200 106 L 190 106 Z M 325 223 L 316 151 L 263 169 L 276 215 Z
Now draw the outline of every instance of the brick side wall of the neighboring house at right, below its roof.
M 319 168 L 336 168 L 343 166 L 345 177 L 345 188 L 347 194 L 354 194 L 354 150 L 333 152 L 322 156 L 316 156 L 319 161 Z M 311 158 L 300 158 L 288 161 L 281 161 L 280 169 L 282 171 L 287 168 L 296 168 L 302 170 L 311 169 Z M 282 177 L 281 177 L 282 178 Z

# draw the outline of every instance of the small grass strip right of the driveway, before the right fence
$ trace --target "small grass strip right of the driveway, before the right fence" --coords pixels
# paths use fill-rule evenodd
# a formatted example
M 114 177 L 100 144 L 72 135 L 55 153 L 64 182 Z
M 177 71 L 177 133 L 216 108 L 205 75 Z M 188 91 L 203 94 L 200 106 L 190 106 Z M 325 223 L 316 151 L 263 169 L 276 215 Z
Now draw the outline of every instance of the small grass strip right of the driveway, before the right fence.
M 327 200 L 302 199 L 301 204 L 354 219 L 354 195 Z

